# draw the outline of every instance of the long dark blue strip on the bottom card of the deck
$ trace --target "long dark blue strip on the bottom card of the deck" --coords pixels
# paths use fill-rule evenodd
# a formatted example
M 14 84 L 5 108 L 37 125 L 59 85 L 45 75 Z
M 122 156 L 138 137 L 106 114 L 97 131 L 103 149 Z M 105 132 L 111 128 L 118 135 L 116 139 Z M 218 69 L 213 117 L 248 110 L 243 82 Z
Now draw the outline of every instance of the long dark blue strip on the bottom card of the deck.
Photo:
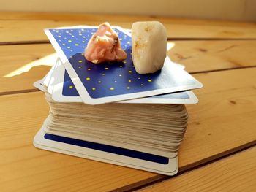
M 153 155 L 150 153 L 143 153 L 143 152 L 136 151 L 136 150 L 129 150 L 129 149 L 121 148 L 121 147 L 115 147 L 115 146 L 111 146 L 111 145 L 104 145 L 104 144 L 100 144 L 100 143 L 96 143 L 96 142 L 88 142 L 88 141 L 83 141 L 80 139 L 62 137 L 62 136 L 54 135 L 54 134 L 45 134 L 45 139 L 53 140 L 56 142 L 64 142 L 69 145 L 86 147 L 86 148 L 90 148 L 93 150 L 100 150 L 100 151 L 104 151 L 104 152 L 108 152 L 108 153 L 113 153 L 116 155 L 124 155 L 124 156 L 131 157 L 131 158 L 138 158 L 141 160 L 151 161 L 151 162 L 158 163 L 158 164 L 168 164 L 169 163 L 169 158 L 166 158 L 166 157 L 162 157 L 159 155 Z

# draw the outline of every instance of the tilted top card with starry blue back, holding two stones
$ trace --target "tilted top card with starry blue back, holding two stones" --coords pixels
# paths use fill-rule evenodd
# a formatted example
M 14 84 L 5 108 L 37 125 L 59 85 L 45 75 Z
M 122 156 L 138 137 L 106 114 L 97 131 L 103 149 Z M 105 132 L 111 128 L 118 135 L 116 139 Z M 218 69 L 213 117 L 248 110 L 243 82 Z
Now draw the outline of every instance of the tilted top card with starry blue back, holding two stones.
M 131 37 L 119 27 L 113 27 L 121 40 L 127 59 L 121 62 L 93 64 L 83 52 L 97 27 L 46 29 L 47 34 L 81 99 L 86 104 L 103 104 L 138 99 L 163 93 L 201 88 L 203 85 L 178 67 L 169 58 L 154 74 L 138 74 L 132 64 Z

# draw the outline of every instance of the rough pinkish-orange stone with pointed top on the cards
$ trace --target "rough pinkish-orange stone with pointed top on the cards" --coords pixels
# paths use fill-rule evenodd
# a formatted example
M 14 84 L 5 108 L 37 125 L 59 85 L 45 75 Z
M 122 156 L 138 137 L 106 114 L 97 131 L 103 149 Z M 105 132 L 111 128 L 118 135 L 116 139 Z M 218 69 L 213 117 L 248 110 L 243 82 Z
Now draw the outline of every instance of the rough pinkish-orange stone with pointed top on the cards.
M 118 35 L 109 23 L 99 25 L 98 30 L 89 40 L 84 55 L 94 64 L 122 61 L 127 58 L 127 53 L 121 48 Z

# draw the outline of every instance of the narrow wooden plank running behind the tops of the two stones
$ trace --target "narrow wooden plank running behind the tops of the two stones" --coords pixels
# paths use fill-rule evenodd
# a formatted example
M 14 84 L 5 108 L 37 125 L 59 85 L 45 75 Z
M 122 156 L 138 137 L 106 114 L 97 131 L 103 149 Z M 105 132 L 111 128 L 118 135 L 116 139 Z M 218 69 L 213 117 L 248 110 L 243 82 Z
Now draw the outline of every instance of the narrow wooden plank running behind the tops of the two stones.
M 75 25 L 98 25 L 104 20 L 0 20 L 0 43 L 8 42 L 42 42 L 48 41 L 43 33 L 43 28 Z M 108 20 L 109 21 L 109 20 Z M 131 28 L 132 21 L 111 20 L 112 25 Z M 167 28 L 167 37 L 171 39 L 252 39 L 256 38 L 256 26 L 244 24 L 244 26 L 224 25 L 219 23 L 203 25 L 200 22 L 194 24 L 169 23 L 163 20 Z M 193 23 L 193 22 L 192 22 Z

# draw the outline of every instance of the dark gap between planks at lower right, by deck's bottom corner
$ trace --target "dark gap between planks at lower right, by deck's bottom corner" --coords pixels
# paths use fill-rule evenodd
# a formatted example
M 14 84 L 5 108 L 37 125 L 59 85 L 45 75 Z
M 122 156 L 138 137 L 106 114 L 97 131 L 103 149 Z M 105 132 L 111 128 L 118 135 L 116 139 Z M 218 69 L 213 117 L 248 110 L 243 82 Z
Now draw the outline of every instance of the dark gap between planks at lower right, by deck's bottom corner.
M 140 190 L 142 188 L 148 187 L 149 185 L 155 185 L 155 184 L 163 182 L 165 180 L 169 180 L 169 179 L 172 179 L 174 177 L 178 177 L 178 176 L 180 176 L 182 174 L 185 174 L 187 172 L 192 172 L 195 169 L 200 169 L 203 166 L 207 166 L 207 165 L 215 163 L 217 161 L 221 161 L 222 159 L 231 157 L 233 155 L 236 155 L 238 153 L 243 152 L 244 150 L 248 150 L 248 149 L 250 149 L 252 147 L 255 147 L 255 145 L 256 145 L 256 141 L 252 141 L 252 142 L 247 143 L 246 145 L 242 145 L 242 146 L 234 148 L 234 149 L 232 149 L 230 151 L 220 153 L 220 154 L 217 155 L 216 158 L 213 158 L 213 159 L 211 159 L 209 161 L 203 162 L 202 164 L 200 164 L 200 162 L 197 162 L 198 164 L 196 166 L 192 166 L 189 169 L 186 169 L 185 167 L 183 169 L 181 168 L 181 170 L 178 172 L 178 174 L 174 175 L 173 177 L 172 176 L 166 176 L 166 175 L 158 174 L 155 177 L 151 177 L 151 178 L 148 178 L 146 180 L 141 180 L 138 183 L 132 183 L 131 185 L 126 185 L 126 186 L 123 186 L 121 188 L 117 188 L 117 189 L 113 190 L 112 192 L 138 191 L 138 190 Z M 224 154 L 224 153 L 226 153 L 226 154 Z

